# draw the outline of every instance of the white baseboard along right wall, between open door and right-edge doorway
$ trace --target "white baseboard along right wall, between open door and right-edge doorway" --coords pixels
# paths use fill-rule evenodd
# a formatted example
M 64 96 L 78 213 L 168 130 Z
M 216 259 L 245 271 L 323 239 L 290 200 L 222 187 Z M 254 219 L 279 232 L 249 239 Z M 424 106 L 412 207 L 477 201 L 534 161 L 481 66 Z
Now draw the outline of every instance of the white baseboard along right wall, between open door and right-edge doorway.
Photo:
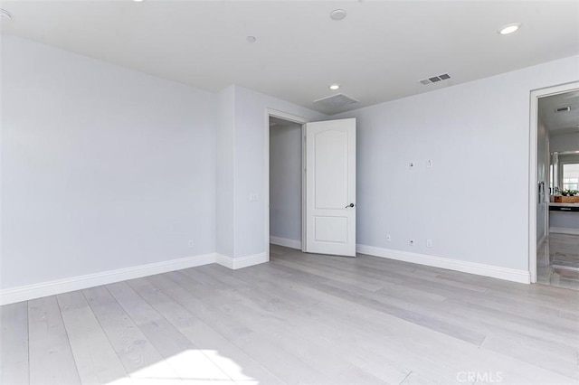
M 530 273 L 526 270 L 515 268 L 501 268 L 498 266 L 484 265 L 475 262 L 466 262 L 451 258 L 432 257 L 425 254 L 409 253 L 393 249 L 382 249 L 374 246 L 356 245 L 356 252 L 370 256 L 402 260 L 404 262 L 419 265 L 432 266 L 433 268 L 447 268 L 463 273 L 476 274 L 478 276 L 505 279 L 508 281 L 529 284 Z

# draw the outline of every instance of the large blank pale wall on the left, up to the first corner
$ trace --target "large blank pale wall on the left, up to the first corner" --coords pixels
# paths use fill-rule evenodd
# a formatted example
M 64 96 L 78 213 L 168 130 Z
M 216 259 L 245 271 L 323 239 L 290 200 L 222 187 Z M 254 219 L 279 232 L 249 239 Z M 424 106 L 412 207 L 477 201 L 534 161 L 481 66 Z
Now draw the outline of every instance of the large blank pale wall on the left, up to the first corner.
M 214 252 L 217 105 L 3 35 L 1 287 Z

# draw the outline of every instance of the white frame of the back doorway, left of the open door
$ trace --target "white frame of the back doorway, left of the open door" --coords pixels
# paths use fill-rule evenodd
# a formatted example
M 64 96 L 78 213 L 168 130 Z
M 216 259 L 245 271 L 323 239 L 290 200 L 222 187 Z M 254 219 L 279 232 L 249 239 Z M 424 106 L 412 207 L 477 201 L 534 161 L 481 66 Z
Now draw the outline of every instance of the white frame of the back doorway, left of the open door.
M 267 259 L 270 260 L 270 117 L 278 117 L 289 122 L 301 125 L 301 251 L 306 249 L 306 148 L 304 140 L 306 135 L 306 123 L 311 120 L 307 117 L 288 114 L 277 109 L 266 108 L 265 110 L 265 192 L 263 192 L 263 204 L 265 212 L 265 250 Z

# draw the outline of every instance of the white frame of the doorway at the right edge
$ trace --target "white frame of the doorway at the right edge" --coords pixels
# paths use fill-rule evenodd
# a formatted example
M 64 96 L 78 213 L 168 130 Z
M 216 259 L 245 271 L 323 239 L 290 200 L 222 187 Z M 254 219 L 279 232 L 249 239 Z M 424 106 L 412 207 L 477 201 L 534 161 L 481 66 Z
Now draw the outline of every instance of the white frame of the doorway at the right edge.
M 579 81 L 574 81 L 571 83 L 565 83 L 558 86 L 546 87 L 544 89 L 534 89 L 531 90 L 530 96 L 530 127 L 529 127 L 529 174 L 528 174 L 528 268 L 529 274 L 531 276 L 531 283 L 536 283 L 536 201 L 537 197 L 537 179 L 536 179 L 536 169 L 538 161 L 538 148 L 537 146 L 537 136 L 538 136 L 538 104 L 540 98 L 545 98 L 547 96 L 553 96 L 558 94 L 564 94 L 569 91 L 579 89 Z M 549 211 L 546 211 L 546 216 L 548 216 Z M 545 219 L 544 219 L 545 221 Z M 548 223 L 548 220 L 546 220 Z M 548 234 L 548 229 L 546 229 Z

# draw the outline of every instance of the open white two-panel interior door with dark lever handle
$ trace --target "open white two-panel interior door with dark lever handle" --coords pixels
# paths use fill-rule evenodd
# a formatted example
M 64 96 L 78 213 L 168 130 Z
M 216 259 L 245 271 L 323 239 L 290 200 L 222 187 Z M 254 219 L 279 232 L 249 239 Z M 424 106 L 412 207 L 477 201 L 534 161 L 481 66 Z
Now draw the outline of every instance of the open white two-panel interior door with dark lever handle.
M 306 248 L 356 257 L 356 118 L 306 124 Z

